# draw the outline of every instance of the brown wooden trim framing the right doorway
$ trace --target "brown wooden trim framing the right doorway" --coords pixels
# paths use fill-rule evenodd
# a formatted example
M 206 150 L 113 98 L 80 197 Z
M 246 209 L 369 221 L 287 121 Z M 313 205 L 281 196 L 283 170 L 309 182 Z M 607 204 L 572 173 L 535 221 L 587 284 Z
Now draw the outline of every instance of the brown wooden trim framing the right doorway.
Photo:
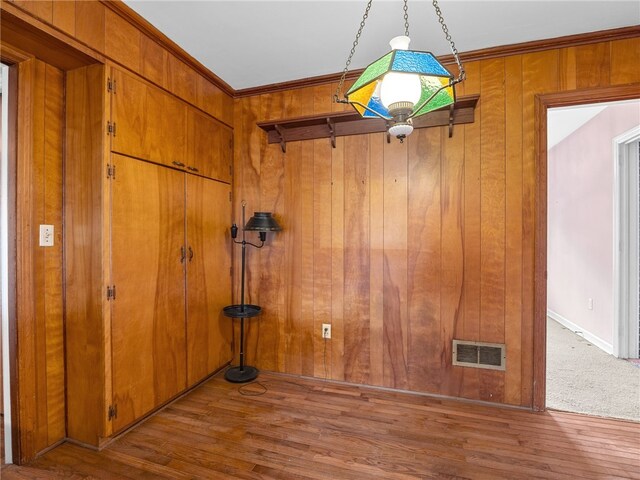
M 598 87 L 535 96 L 535 241 L 533 317 L 533 401 L 535 411 L 546 408 L 547 368 L 547 110 L 589 103 L 640 98 L 640 84 Z

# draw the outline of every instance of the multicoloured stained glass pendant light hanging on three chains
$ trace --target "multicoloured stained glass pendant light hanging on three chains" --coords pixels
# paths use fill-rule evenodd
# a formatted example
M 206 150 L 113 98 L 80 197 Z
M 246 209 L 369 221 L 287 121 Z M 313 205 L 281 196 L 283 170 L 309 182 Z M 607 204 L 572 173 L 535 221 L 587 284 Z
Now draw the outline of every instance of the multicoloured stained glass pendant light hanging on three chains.
M 402 142 L 413 131 L 412 118 L 452 105 L 456 101 L 455 85 L 465 79 L 465 71 L 437 0 L 432 3 L 458 65 L 458 77 L 454 77 L 432 53 L 409 50 L 409 16 L 407 0 L 404 0 L 405 34 L 391 39 L 391 51 L 365 68 L 346 92 L 344 99 L 340 99 L 372 1 L 367 3 L 334 99 L 336 102 L 352 105 L 364 118 L 387 120 L 389 134 Z

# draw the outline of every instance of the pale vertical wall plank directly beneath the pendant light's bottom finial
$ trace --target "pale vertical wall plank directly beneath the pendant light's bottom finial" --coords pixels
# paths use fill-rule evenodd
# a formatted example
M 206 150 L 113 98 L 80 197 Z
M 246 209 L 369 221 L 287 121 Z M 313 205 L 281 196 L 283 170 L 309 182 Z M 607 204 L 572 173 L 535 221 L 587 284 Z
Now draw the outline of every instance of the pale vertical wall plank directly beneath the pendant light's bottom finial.
M 384 134 L 378 134 L 381 140 Z M 384 141 L 384 140 L 383 140 Z M 407 311 L 407 142 L 384 143 L 384 385 L 406 389 Z M 375 292 L 372 292 L 375 294 Z M 372 354 L 374 351 L 372 351 Z M 382 354 L 375 351 L 376 356 Z

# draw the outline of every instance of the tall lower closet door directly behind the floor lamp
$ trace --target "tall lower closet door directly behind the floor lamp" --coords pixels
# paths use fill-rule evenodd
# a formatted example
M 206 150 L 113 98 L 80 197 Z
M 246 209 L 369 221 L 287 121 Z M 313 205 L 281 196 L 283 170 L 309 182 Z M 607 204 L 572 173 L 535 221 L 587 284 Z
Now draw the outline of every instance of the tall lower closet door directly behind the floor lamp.
M 187 372 L 188 383 L 231 360 L 230 185 L 187 175 Z M 191 256 L 193 252 L 193 256 Z

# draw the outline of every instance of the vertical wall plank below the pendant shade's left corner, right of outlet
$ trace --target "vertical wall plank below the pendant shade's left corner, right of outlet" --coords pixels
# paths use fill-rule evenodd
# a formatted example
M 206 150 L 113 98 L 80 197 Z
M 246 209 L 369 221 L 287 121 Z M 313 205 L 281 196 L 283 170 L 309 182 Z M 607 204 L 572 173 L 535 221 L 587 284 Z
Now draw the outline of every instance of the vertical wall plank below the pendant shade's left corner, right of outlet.
M 369 364 L 369 139 L 344 142 L 344 376 L 368 383 Z

